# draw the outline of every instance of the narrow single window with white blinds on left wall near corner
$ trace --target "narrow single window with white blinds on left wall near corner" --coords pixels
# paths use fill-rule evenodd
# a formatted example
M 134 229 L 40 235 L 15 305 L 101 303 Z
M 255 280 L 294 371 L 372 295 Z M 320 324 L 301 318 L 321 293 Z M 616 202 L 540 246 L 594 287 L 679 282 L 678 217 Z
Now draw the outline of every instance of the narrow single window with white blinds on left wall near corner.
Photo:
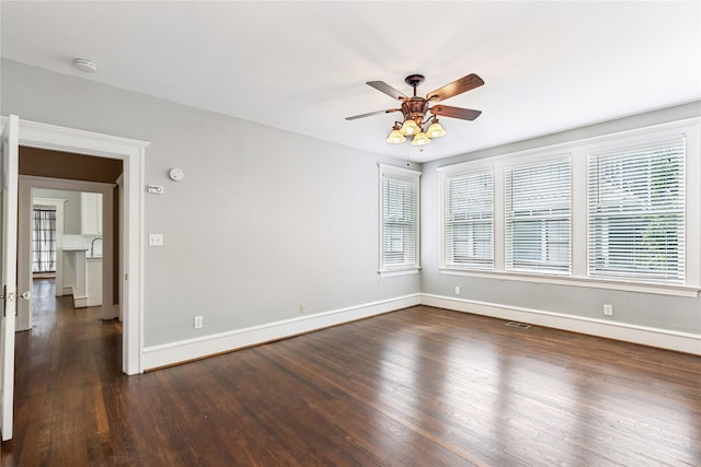
M 380 165 L 380 273 L 418 269 L 418 177 Z

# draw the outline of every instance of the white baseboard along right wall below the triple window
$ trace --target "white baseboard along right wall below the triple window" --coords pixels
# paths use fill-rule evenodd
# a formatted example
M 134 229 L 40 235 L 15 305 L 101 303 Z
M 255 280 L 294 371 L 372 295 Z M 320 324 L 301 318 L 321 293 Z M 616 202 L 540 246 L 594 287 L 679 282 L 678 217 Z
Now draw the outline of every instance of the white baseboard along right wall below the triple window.
M 701 355 L 701 335 L 697 334 L 426 293 L 421 304 Z

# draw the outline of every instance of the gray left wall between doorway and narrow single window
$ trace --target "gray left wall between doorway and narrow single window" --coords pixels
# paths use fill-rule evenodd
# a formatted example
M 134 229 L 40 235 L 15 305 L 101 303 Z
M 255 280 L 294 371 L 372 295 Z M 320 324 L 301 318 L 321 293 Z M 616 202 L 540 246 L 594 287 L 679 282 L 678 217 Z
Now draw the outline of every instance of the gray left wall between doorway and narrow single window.
M 150 141 L 145 345 L 416 293 L 377 273 L 378 162 L 329 142 L 2 61 L 2 115 Z M 170 167 L 185 171 L 180 183 Z M 193 316 L 204 315 L 203 330 Z

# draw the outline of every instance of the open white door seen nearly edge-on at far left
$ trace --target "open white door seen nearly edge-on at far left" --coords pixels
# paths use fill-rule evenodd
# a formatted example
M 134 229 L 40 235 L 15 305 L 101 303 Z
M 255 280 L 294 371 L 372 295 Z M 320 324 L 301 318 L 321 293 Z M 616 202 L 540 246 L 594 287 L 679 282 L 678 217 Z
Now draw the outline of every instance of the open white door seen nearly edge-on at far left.
M 18 161 L 20 119 L 11 115 L 2 129 L 0 159 L 0 432 L 2 440 L 12 437 L 12 402 L 14 393 L 14 315 L 16 312 L 18 268 Z

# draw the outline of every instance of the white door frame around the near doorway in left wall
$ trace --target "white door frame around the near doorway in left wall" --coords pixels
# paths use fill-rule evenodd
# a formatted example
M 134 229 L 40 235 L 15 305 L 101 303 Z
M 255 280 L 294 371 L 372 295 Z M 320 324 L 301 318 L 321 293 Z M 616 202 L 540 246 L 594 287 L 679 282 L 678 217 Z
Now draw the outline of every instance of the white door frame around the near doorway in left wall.
M 5 117 L 2 117 L 3 120 Z M 122 229 L 123 371 L 143 372 L 143 157 L 146 141 L 20 120 L 20 145 L 119 159 L 124 163 Z

